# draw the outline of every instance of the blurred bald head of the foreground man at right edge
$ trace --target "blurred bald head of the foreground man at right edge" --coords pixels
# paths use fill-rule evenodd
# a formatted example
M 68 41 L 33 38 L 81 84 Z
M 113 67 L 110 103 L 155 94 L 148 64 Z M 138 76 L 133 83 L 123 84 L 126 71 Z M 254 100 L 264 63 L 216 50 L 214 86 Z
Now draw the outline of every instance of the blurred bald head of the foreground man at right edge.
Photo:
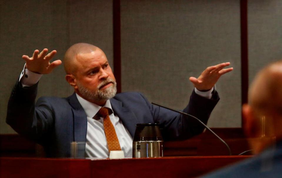
M 255 154 L 282 139 L 282 61 L 263 68 L 252 82 L 243 105 L 244 131 Z

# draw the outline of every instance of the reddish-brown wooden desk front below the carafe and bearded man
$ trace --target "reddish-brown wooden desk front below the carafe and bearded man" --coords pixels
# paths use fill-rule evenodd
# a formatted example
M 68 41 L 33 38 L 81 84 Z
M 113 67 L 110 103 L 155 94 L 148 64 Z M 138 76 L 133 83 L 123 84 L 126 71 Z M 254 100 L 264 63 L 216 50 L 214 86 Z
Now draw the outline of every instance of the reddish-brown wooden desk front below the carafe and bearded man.
M 92 160 L 1 157 L 0 177 L 197 177 L 248 157 L 250 156 Z

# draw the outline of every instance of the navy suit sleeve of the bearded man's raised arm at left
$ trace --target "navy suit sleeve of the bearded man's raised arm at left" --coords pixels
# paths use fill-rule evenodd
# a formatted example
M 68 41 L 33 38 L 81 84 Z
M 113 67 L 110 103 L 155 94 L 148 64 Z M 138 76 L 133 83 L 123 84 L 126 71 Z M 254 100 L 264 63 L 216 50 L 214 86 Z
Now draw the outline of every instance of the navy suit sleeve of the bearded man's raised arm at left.
M 16 83 L 8 102 L 6 123 L 19 134 L 40 142 L 51 128 L 52 111 L 42 99 L 35 107 L 37 85 L 22 87 L 20 82 Z

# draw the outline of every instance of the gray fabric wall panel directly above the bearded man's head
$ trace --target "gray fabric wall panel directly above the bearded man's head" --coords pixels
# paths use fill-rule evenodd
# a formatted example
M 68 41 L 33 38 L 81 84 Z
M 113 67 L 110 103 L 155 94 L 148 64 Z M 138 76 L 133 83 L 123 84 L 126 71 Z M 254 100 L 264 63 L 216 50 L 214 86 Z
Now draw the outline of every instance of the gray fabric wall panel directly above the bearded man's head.
M 101 48 L 113 69 L 113 3 L 103 1 L 70 1 L 70 45 L 86 42 Z

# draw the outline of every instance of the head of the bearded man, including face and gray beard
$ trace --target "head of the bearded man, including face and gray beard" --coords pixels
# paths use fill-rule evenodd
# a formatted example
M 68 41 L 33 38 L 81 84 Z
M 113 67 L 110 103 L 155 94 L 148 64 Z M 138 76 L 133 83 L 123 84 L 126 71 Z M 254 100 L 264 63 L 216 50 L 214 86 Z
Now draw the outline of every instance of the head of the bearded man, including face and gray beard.
M 116 94 L 116 79 L 105 53 L 98 47 L 77 43 L 64 56 L 66 81 L 80 97 L 103 106 Z

